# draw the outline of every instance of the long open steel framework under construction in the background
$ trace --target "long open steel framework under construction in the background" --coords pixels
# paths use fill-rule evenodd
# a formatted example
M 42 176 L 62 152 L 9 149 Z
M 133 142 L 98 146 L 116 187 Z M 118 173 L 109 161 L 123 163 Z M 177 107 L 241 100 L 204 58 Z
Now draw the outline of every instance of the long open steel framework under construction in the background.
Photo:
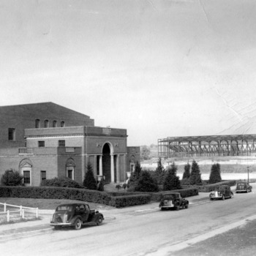
M 256 135 L 167 137 L 158 140 L 158 157 L 251 156 Z

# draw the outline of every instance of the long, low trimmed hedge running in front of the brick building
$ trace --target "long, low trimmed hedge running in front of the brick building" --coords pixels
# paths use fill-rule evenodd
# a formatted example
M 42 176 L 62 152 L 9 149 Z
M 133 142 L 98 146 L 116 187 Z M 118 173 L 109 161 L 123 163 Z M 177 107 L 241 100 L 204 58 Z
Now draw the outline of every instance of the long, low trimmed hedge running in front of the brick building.
M 198 189 L 178 189 L 182 197 L 198 195 Z M 44 198 L 81 200 L 100 203 L 116 208 L 135 206 L 148 203 L 150 200 L 159 201 L 163 192 L 100 192 L 89 189 L 68 187 L 0 187 L 0 197 Z

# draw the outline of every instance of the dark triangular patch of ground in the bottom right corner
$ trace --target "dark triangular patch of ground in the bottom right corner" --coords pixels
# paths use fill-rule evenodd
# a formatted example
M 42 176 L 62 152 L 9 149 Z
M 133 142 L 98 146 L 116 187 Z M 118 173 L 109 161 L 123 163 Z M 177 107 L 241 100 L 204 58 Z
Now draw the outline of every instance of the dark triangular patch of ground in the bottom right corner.
M 173 256 L 244 256 L 256 253 L 256 220 L 173 252 Z

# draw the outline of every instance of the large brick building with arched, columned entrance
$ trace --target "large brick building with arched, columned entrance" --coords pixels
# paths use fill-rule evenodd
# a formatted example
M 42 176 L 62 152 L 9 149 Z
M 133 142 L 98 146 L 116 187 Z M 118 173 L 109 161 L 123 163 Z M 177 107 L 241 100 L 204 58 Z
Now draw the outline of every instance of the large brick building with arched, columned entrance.
M 82 183 L 88 162 L 95 177 L 124 182 L 140 162 L 126 129 L 95 127 L 89 116 L 52 102 L 3 106 L 0 116 L 0 177 L 18 170 L 26 186 L 55 177 Z

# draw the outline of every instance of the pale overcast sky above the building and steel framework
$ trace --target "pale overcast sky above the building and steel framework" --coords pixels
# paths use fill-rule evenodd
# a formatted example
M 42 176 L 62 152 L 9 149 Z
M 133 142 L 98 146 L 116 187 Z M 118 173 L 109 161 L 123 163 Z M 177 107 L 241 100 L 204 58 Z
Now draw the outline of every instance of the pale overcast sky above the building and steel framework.
M 159 138 L 256 134 L 256 2 L 0 0 L 0 105 Z

